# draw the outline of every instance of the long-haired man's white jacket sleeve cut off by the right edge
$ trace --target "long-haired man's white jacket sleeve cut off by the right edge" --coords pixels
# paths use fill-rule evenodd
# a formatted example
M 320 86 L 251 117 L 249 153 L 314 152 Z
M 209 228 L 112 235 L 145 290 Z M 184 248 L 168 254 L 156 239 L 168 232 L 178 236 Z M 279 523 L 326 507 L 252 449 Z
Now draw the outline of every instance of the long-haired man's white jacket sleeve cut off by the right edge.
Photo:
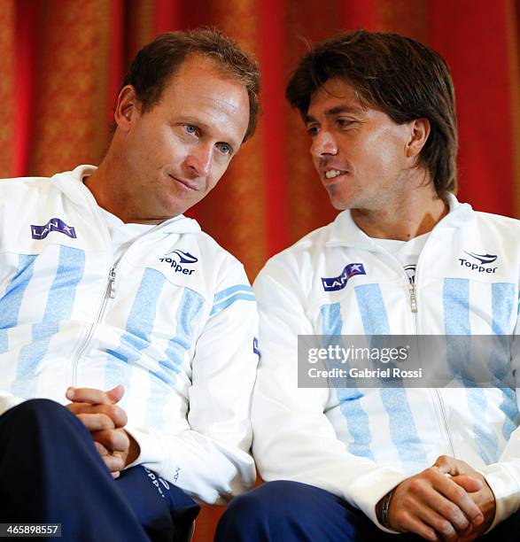
M 520 305 L 518 306 L 520 313 Z M 516 373 L 516 405 L 520 411 L 520 317 L 516 316 L 516 329 L 511 346 L 512 363 Z M 520 508 L 520 428 L 516 427 L 499 461 L 479 469 L 491 487 L 496 499 L 493 527 Z

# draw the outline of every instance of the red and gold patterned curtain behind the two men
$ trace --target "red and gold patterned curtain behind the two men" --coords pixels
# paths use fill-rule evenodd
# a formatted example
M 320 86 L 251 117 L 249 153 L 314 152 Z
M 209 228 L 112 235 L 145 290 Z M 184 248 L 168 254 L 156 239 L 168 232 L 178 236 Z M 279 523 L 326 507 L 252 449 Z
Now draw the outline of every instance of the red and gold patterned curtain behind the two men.
M 452 68 L 460 128 L 459 197 L 520 216 L 518 0 L 2 0 L 0 176 L 96 164 L 129 60 L 154 35 L 217 26 L 259 58 L 260 129 L 190 215 L 244 262 L 268 256 L 334 218 L 284 84 L 306 41 L 342 29 L 398 32 Z M 212 539 L 205 511 L 196 539 Z

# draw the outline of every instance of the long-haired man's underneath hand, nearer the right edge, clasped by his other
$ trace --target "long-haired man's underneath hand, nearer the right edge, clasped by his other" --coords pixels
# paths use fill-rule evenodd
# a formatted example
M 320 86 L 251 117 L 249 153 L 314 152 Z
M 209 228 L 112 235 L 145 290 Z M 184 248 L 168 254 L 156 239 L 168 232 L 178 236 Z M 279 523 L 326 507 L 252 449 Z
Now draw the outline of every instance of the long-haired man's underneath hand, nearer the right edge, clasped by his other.
M 465 476 L 471 476 L 482 482 L 481 490 L 478 492 L 468 492 L 468 494 L 484 515 L 484 522 L 474 528 L 468 537 L 459 538 L 461 542 L 475 540 L 475 538 L 483 535 L 493 523 L 496 511 L 496 500 L 491 487 L 487 484 L 485 476 L 481 475 L 475 468 L 470 467 L 465 461 L 457 460 L 454 457 L 449 457 L 447 455 L 441 455 L 438 460 L 435 461 L 435 465 L 448 472 L 452 480 L 456 484 L 459 484 L 464 490 L 466 490 L 464 484 L 467 480 L 467 477 Z

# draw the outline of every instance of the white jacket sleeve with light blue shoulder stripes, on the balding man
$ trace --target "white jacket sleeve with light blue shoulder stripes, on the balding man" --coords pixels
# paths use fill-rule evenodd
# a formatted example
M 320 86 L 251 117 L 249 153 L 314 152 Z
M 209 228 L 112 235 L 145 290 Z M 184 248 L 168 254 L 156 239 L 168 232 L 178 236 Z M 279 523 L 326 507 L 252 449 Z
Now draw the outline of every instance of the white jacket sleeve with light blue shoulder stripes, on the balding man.
M 191 362 L 186 430 L 171 434 L 129 429 L 141 447 L 137 460 L 208 504 L 225 504 L 254 484 L 249 453 L 252 386 L 258 355 L 258 313 L 238 264 L 218 285 L 212 312 Z

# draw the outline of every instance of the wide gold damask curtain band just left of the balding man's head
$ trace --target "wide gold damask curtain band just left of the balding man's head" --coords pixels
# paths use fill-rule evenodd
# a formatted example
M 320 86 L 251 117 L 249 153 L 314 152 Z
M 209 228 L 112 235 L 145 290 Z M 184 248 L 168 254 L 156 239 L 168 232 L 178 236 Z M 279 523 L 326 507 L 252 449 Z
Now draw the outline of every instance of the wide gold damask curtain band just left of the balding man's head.
M 108 27 L 103 0 L 50 0 L 44 6 L 33 133 L 37 144 L 29 174 L 48 175 L 100 158 L 98 130 L 106 132 L 106 102 L 99 99 L 108 66 L 99 71 L 99 58 L 106 57 L 103 33 Z

